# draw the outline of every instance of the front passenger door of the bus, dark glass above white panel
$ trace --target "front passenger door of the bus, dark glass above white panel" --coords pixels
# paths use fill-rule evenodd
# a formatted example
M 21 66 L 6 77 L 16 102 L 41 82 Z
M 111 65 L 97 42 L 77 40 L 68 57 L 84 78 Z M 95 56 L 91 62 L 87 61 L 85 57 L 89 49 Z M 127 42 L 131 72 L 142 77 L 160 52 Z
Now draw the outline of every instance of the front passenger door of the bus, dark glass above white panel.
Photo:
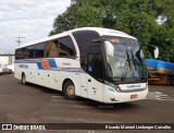
M 103 62 L 101 52 L 88 53 L 88 98 L 103 101 Z

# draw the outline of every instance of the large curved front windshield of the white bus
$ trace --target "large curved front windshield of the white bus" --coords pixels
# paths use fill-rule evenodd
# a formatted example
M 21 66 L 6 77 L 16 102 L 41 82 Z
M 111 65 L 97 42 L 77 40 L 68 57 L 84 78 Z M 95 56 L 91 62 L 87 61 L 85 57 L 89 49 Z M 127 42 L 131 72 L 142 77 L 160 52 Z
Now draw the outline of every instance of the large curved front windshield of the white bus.
M 133 38 L 103 36 L 107 73 L 112 80 L 145 80 L 147 68 L 138 41 Z

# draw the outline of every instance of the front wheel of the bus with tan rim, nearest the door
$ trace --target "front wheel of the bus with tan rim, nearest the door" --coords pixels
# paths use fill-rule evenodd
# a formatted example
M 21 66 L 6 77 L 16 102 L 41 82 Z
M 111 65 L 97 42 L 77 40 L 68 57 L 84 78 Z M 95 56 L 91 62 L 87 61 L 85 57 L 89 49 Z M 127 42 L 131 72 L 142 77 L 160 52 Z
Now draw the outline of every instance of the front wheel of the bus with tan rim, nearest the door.
M 75 85 L 72 81 L 67 81 L 63 85 L 63 94 L 69 100 L 76 100 L 77 96 L 75 95 Z

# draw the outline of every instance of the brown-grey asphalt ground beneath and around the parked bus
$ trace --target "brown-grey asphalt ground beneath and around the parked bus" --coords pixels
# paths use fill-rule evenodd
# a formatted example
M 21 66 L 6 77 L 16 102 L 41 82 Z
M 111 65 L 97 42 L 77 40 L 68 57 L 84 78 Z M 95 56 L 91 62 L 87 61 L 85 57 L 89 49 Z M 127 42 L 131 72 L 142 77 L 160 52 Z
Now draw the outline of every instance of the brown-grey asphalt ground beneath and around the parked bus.
M 0 75 L 0 123 L 174 123 L 174 86 L 149 85 L 149 95 L 145 100 L 103 105 L 84 98 L 76 101 L 67 100 L 61 92 L 34 84 L 22 85 L 21 81 L 14 78 L 12 74 Z M 34 131 L 14 132 L 33 133 Z M 127 133 L 135 131 L 60 130 L 45 132 Z M 137 132 L 166 133 L 173 131 L 138 130 Z

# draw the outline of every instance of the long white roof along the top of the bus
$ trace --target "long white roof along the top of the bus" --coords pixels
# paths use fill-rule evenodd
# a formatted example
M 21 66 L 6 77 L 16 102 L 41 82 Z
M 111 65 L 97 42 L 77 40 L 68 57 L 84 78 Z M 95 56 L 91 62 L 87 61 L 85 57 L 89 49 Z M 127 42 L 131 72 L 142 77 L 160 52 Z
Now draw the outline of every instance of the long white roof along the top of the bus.
M 35 44 L 39 44 L 39 43 L 45 43 L 45 41 L 48 41 L 48 40 L 53 40 L 53 39 L 57 39 L 59 37 L 67 36 L 67 35 L 70 35 L 70 33 L 82 32 L 82 31 L 94 31 L 94 32 L 97 32 L 100 36 L 108 35 L 108 36 L 120 36 L 120 37 L 126 37 L 126 38 L 136 39 L 135 37 L 128 35 L 126 33 L 123 33 L 123 32 L 120 32 L 120 31 L 110 29 L 110 28 L 103 28 L 103 27 L 80 27 L 80 28 L 71 29 L 71 31 L 67 31 L 67 32 L 64 32 L 64 33 L 60 33 L 60 34 L 57 34 L 57 35 L 53 35 L 53 36 L 50 36 L 50 37 L 46 37 L 46 38 L 33 41 L 33 43 L 28 43 L 26 45 L 17 47 L 16 49 L 23 48 L 23 47 L 27 47 L 27 46 L 30 46 L 30 45 L 35 45 Z

